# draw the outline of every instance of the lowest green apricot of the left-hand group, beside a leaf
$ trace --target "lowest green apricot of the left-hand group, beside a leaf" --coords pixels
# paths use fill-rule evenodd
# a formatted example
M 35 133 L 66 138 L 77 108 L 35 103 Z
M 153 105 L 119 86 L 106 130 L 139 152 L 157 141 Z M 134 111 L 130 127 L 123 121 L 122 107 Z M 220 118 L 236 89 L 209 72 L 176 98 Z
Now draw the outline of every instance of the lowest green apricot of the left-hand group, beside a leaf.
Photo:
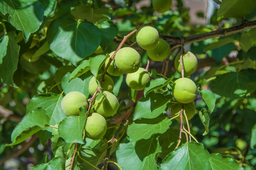
M 85 124 L 85 136 L 92 140 L 101 139 L 107 131 L 106 119 L 99 113 L 92 113 Z

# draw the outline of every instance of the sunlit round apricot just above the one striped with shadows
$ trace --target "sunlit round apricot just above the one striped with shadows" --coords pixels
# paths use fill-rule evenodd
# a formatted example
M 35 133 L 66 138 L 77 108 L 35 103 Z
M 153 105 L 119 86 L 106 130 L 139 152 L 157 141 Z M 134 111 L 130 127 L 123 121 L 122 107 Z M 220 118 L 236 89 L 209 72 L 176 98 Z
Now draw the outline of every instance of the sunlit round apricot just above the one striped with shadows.
M 140 55 L 131 47 L 124 47 L 117 51 L 115 64 L 123 73 L 134 73 L 140 66 Z

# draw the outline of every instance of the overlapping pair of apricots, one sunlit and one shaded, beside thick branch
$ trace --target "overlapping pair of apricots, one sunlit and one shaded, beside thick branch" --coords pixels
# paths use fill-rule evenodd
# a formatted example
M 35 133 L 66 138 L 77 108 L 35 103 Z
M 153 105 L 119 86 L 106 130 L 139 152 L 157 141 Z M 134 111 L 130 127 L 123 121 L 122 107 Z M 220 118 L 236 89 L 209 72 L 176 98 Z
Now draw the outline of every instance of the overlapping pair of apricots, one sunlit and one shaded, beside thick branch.
M 154 61 L 161 61 L 170 54 L 170 45 L 159 38 L 158 31 L 152 26 L 142 26 L 136 34 L 138 45 L 146 50 L 148 57 Z

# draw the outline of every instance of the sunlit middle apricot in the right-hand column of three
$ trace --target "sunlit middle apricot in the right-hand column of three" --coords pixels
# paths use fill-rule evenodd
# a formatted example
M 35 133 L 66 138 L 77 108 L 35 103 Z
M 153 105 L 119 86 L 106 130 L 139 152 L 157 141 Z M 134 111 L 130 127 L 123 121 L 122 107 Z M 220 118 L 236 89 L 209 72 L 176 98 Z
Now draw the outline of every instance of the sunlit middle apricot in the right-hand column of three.
M 196 98 L 197 87 L 191 79 L 179 78 L 174 82 L 172 92 L 176 101 L 190 103 Z

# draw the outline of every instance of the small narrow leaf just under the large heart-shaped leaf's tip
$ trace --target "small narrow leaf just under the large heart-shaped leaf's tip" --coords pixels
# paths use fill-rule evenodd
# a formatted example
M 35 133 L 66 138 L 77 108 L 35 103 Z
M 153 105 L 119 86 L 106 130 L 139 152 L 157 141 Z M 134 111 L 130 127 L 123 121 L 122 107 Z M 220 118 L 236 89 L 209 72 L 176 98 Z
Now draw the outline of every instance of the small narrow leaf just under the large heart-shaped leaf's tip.
M 83 60 L 77 68 L 69 76 L 69 81 L 73 80 L 76 77 L 79 77 L 90 70 L 90 59 Z

